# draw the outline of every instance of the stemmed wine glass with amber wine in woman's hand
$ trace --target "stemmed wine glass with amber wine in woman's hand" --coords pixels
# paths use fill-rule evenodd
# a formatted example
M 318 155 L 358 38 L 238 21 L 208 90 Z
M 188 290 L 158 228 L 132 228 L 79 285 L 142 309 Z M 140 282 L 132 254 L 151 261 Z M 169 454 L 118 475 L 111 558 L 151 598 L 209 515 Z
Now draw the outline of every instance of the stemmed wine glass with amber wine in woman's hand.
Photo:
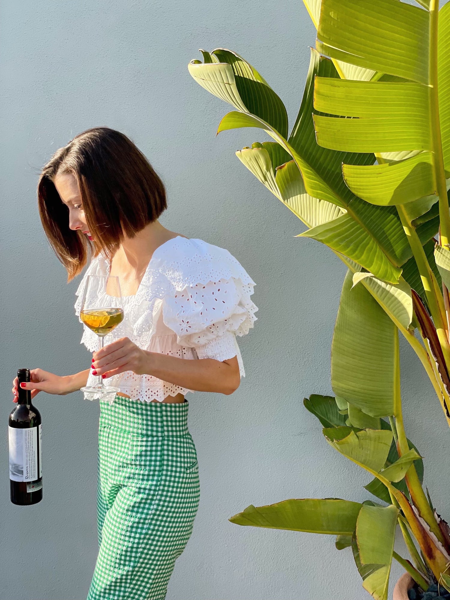
M 107 293 L 108 292 L 110 293 Z M 80 319 L 100 338 L 103 348 L 104 337 L 124 319 L 121 286 L 114 275 L 88 275 L 81 302 Z M 106 386 L 101 375 L 98 383 L 80 388 L 82 392 L 98 394 L 103 398 L 107 394 L 119 391 L 119 388 Z

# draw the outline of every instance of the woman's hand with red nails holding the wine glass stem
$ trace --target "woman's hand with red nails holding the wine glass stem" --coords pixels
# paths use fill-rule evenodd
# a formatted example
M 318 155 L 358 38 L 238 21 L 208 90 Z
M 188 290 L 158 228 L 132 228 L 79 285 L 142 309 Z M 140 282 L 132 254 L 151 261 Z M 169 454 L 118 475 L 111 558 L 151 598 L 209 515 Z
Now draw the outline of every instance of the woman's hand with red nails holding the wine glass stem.
M 92 374 L 112 377 L 124 371 L 145 373 L 148 352 L 136 346 L 130 338 L 120 338 L 92 354 Z

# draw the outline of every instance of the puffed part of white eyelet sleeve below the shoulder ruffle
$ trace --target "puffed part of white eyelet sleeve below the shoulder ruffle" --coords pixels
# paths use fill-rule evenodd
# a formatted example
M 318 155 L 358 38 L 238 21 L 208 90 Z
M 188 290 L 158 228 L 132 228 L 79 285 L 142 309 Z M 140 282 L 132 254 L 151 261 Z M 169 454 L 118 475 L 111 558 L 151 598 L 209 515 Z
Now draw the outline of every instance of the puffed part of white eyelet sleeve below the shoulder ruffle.
M 243 377 L 236 335 L 248 334 L 258 309 L 250 298 L 255 284 L 241 265 L 239 268 L 239 277 L 185 286 L 164 298 L 163 320 L 177 334 L 177 342 L 194 347 L 199 358 L 225 361 L 237 356 Z

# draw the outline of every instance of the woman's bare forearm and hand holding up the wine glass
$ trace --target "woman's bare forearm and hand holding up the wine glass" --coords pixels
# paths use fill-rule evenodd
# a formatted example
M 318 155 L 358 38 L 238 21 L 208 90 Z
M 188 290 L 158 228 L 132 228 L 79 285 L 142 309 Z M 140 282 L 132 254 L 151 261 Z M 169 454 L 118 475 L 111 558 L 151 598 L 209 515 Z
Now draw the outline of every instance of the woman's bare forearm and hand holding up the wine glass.
M 108 344 L 94 352 L 92 357 L 94 375 L 112 377 L 124 371 L 133 371 L 137 375 L 158 377 L 182 388 L 220 394 L 232 394 L 241 382 L 236 356 L 223 362 L 213 358 L 178 358 L 142 350 L 129 338 Z

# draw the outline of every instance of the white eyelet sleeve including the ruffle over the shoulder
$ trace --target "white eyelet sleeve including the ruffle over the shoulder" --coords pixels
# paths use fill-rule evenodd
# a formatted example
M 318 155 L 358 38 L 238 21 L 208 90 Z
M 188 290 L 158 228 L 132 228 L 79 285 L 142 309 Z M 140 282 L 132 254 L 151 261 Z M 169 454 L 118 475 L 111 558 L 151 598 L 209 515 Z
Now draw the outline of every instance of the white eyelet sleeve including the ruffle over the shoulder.
M 191 252 L 171 256 L 160 269 L 175 293 L 163 299 L 163 320 L 182 346 L 194 347 L 199 358 L 225 361 L 237 356 L 245 376 L 236 335 L 248 334 L 258 310 L 251 301 L 254 281 L 224 248 L 190 239 Z

